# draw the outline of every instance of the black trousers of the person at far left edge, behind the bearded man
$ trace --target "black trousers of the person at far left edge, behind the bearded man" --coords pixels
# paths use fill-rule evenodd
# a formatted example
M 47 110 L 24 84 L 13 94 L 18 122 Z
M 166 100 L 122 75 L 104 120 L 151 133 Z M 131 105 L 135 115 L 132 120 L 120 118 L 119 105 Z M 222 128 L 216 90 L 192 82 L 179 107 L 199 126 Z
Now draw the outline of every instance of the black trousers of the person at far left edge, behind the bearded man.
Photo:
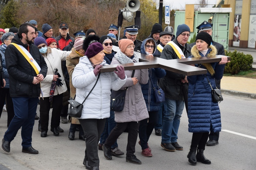
M 2 115 L 5 98 L 6 98 L 6 111 L 7 111 L 7 127 L 9 127 L 14 117 L 14 108 L 13 108 L 12 98 L 10 97 L 10 88 L 0 88 L 0 118 Z

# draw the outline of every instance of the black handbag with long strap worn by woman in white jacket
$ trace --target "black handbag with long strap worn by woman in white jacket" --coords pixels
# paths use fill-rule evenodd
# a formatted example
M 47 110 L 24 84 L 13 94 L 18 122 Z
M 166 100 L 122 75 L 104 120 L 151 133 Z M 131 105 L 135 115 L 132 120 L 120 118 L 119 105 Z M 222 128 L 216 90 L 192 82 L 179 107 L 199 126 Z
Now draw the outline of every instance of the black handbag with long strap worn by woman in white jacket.
M 100 77 L 100 73 L 98 75 L 97 81 L 94 84 L 93 88 L 91 89 L 91 91 L 93 91 L 94 87 L 96 86 L 98 80 Z M 90 95 L 91 91 L 89 92 L 89 94 L 86 96 L 86 98 L 84 99 L 83 103 L 80 104 L 79 102 L 75 101 L 75 97 L 74 99 L 69 98 L 68 102 L 70 103 L 70 107 L 68 109 L 68 115 L 70 117 L 75 117 L 75 118 L 80 118 L 82 116 L 82 110 L 83 110 L 83 104 L 85 102 L 85 100 L 87 99 L 87 97 Z M 76 95 L 75 95 L 76 96 Z

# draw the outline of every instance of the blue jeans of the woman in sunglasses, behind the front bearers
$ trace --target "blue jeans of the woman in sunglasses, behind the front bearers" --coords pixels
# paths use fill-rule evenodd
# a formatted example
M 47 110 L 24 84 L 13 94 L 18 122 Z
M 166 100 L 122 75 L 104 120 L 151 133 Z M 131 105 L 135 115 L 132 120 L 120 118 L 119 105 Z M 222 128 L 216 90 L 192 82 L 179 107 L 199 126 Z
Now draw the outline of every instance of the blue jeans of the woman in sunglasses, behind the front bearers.
M 114 111 L 110 111 L 110 117 L 106 120 L 105 123 L 105 127 L 103 130 L 103 133 L 100 136 L 100 144 L 104 144 L 106 141 L 106 138 L 109 137 L 110 132 L 112 131 L 112 129 L 114 129 L 116 126 L 116 122 L 115 122 L 115 112 Z M 115 143 L 111 146 L 112 149 L 114 149 L 115 147 L 118 147 L 117 145 L 117 140 L 115 141 Z

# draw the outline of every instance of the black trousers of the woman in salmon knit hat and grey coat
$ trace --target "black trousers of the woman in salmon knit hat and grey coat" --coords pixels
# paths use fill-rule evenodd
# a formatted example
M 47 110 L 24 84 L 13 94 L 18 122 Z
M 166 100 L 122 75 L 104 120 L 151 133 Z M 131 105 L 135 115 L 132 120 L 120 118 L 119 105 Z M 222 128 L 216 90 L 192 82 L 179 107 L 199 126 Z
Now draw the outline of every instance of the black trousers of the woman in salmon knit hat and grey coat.
M 116 139 L 128 128 L 128 141 L 126 147 L 126 156 L 132 156 L 135 153 L 135 145 L 138 138 L 140 122 L 123 122 L 116 123 L 115 128 L 110 132 L 109 137 L 105 141 L 105 147 L 111 148 Z M 87 136 L 86 136 L 87 137 Z M 86 138 L 87 140 L 87 138 Z

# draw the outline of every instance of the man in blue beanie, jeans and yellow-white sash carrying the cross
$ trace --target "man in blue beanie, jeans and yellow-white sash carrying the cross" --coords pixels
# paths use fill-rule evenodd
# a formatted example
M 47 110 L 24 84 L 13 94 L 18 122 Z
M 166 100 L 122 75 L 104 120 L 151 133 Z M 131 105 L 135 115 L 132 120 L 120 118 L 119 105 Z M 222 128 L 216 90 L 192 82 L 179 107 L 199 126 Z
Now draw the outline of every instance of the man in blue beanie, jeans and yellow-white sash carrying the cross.
M 173 60 L 190 56 L 190 46 L 187 44 L 190 29 L 186 24 L 177 27 L 176 38 L 165 45 L 160 58 Z M 159 86 L 165 92 L 167 112 L 163 115 L 161 147 L 166 151 L 183 150 L 177 143 L 177 133 L 180 118 L 187 101 L 187 76 L 166 70 L 166 76 L 160 79 Z

